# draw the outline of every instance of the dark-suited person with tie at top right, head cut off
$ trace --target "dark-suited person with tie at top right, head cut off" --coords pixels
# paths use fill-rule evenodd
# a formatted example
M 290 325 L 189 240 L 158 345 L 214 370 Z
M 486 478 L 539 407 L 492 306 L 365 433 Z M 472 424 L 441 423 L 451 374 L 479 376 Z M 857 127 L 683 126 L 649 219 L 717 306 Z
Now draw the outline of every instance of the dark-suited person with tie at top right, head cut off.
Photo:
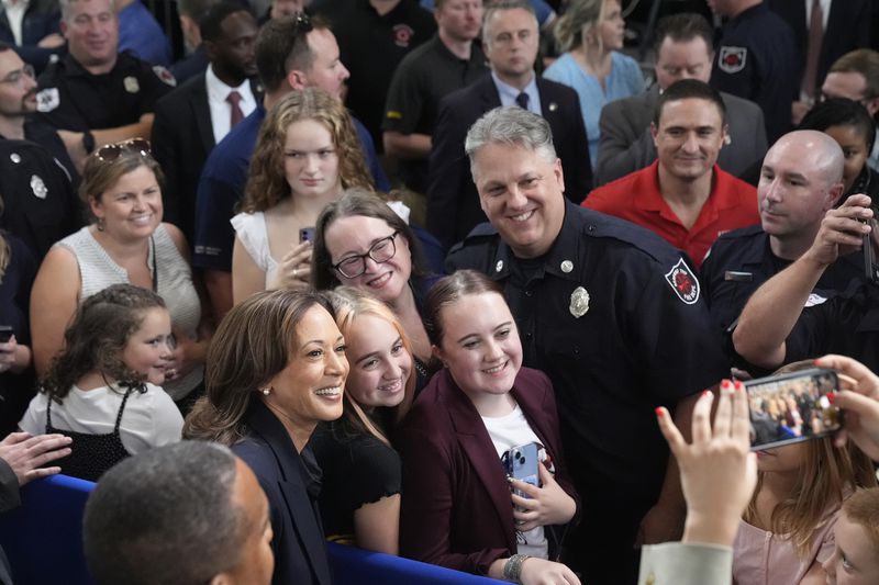
M 799 124 L 802 116 L 817 101 L 821 83 L 831 65 L 856 48 L 870 46 L 870 0 L 768 0 L 772 12 L 785 19 L 793 30 L 797 52 L 800 99 L 791 109 L 793 124 Z M 806 11 L 806 3 L 809 10 Z M 815 7 L 817 4 L 817 7 Z M 817 11 L 816 11 L 817 10 Z M 812 15 L 822 18 L 821 23 L 812 23 Z M 812 47 L 813 26 L 821 27 L 816 47 Z M 816 50 L 811 78 L 806 74 L 812 52 Z

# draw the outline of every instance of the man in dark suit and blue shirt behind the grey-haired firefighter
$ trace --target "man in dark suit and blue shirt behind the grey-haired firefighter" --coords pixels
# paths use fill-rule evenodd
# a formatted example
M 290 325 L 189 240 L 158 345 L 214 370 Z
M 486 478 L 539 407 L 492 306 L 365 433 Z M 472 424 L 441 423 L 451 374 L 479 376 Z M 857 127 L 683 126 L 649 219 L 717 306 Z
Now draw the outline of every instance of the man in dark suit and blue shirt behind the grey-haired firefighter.
M 565 194 L 579 203 L 592 185 L 592 168 L 577 93 L 534 72 L 539 42 L 534 9 L 510 1 L 486 9 L 483 52 L 491 75 L 447 95 L 439 104 L 427 182 L 427 229 L 444 246 L 460 241 L 486 221 L 479 207 L 464 137 L 474 122 L 499 105 L 543 115 L 553 130 L 565 171 Z

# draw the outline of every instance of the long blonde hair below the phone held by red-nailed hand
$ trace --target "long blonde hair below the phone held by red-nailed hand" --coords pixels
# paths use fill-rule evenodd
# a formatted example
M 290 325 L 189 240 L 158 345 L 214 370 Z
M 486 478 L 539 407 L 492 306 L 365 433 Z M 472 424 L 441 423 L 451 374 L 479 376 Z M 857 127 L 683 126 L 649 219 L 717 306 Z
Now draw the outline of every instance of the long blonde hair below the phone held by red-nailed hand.
M 809 368 L 814 368 L 814 364 L 806 360 L 785 365 L 775 373 Z M 756 522 L 757 494 L 760 493 L 764 477 L 764 472 L 757 473 L 757 488 L 744 515 L 748 524 Z M 790 495 L 772 510 L 769 530 L 786 535 L 797 553 L 805 556 L 816 529 L 833 518 L 832 514 L 827 514 L 827 506 L 834 504 L 834 510 L 838 510 L 852 491 L 876 485 L 872 461 L 850 441 L 843 449 L 833 446 L 832 437 L 806 441 L 800 475 Z

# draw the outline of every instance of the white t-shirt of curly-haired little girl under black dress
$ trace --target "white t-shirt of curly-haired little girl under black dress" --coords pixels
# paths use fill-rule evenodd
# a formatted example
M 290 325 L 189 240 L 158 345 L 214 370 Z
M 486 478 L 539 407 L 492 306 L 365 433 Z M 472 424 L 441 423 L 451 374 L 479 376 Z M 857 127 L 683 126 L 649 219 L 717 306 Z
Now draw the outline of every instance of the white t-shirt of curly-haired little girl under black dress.
M 123 391 L 109 386 L 94 390 L 70 389 L 62 404 L 52 404 L 52 426 L 90 435 L 113 432 Z M 31 435 L 45 435 L 48 394 L 37 394 L 19 423 Z M 146 393 L 134 391 L 125 403 L 119 436 L 129 453 L 147 451 L 153 447 L 177 442 L 183 428 L 183 417 L 168 394 L 159 386 L 146 384 Z

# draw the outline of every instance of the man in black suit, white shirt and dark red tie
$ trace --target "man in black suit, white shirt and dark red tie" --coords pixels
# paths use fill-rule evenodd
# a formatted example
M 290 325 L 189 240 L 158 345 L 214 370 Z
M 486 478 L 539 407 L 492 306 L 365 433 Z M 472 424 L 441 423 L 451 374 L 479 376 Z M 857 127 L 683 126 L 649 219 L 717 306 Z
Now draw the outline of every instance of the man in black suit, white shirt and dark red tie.
M 220 2 L 200 23 L 208 69 L 156 104 L 153 154 L 165 172 L 165 220 L 192 241 L 196 192 L 208 154 L 256 109 L 257 25 L 240 4 Z M 233 98 L 237 94 L 237 98 Z

